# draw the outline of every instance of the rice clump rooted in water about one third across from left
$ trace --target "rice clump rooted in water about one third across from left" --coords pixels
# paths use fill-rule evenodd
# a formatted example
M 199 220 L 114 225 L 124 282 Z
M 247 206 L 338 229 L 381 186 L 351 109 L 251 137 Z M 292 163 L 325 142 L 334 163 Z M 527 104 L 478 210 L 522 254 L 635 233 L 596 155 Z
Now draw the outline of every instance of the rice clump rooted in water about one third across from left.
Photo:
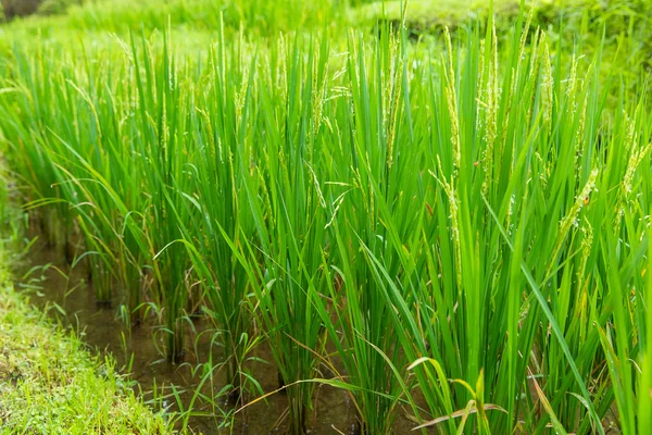
M 241 58 L 243 40 L 227 52 L 224 33 L 221 35 L 209 58 L 210 72 L 201 78 L 204 91 L 195 97 L 198 109 L 189 128 L 191 153 L 197 158 L 188 169 L 192 174 L 190 190 L 184 195 L 187 207 L 196 209 L 196 213 L 189 213 L 193 216 L 191 224 L 181 222 L 181 228 L 188 254 L 202 282 L 208 302 L 204 310 L 222 333 L 227 378 L 234 387 L 231 397 L 239 398 L 242 364 L 253 331 L 247 303 L 248 276 L 228 241 L 240 245 L 240 238 L 251 239 L 254 235 L 241 174 L 253 158 L 252 144 L 246 136 L 251 126 L 252 101 L 242 94 L 253 84 L 243 64 L 226 61 L 227 55 Z

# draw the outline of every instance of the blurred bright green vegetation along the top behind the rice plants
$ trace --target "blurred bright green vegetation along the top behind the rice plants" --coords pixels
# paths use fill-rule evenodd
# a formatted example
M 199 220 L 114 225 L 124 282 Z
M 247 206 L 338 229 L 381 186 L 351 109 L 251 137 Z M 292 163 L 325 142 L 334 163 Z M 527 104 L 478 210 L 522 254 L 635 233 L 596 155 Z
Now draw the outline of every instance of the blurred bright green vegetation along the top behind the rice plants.
M 389 22 L 398 25 L 403 1 L 372 0 L 0 0 L 0 53 L 33 44 L 82 40 L 102 45 L 114 35 L 168 29 L 186 49 L 211 45 L 224 20 L 225 32 L 244 30 L 249 40 L 276 37 L 280 32 L 346 35 L 351 28 L 368 35 Z M 518 15 L 521 0 L 496 0 L 496 26 L 504 39 Z M 641 73 L 652 66 L 652 1 L 650 0 L 527 0 L 532 26 L 547 33 L 554 52 L 568 60 L 574 51 L 591 55 L 601 49 L 603 77 L 618 75 L 624 87 L 645 86 Z M 449 27 L 481 26 L 488 0 L 410 0 L 405 25 L 413 40 L 441 41 Z M 563 23 L 563 25 L 562 25 Z M 87 38 L 90 36 L 90 38 Z M 336 38 L 344 41 L 346 38 Z M 111 44 L 111 42 L 110 42 Z M 105 44 L 104 44 L 105 46 Z

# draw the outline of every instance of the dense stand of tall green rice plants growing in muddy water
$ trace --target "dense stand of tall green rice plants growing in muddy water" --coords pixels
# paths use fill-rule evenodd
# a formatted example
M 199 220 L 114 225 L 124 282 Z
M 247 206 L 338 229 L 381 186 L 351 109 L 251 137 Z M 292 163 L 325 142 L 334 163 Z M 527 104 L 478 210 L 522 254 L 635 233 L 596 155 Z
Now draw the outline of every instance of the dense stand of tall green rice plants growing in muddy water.
M 652 119 L 636 14 L 569 45 L 536 14 L 414 41 L 278 16 L 308 29 L 242 15 L 237 30 L 225 12 L 198 48 L 143 12 L 142 30 L 79 50 L 16 42 L 0 142 L 33 219 L 53 243 L 84 236 L 98 300 L 155 312 L 170 359 L 201 309 L 230 387 L 263 395 L 246 366 L 267 341 L 292 434 L 319 384 L 349 393 L 366 434 L 401 413 L 423 433 L 643 434 Z M 614 53 L 634 66 L 606 73 Z

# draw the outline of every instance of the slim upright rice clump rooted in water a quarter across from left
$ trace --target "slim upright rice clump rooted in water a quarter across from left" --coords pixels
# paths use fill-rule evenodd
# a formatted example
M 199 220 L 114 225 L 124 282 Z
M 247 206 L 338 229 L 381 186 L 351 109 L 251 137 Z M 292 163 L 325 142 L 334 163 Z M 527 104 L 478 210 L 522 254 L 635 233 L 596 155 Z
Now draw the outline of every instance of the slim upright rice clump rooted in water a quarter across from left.
M 186 250 L 175 243 L 183 236 L 179 223 L 190 219 L 181 195 L 190 183 L 186 172 L 188 142 L 185 132 L 190 122 L 191 99 L 184 86 L 187 78 L 183 78 L 188 76 L 189 69 L 177 69 L 166 37 L 161 58 L 150 53 L 145 38 L 141 41 L 143 57 L 139 61 L 131 38 L 139 100 L 131 140 L 145 158 L 143 173 L 151 195 L 149 238 L 156 252 L 152 258 L 154 279 L 164 301 L 166 353 L 170 360 L 180 361 L 184 356 L 183 319 L 189 309 L 192 279 Z

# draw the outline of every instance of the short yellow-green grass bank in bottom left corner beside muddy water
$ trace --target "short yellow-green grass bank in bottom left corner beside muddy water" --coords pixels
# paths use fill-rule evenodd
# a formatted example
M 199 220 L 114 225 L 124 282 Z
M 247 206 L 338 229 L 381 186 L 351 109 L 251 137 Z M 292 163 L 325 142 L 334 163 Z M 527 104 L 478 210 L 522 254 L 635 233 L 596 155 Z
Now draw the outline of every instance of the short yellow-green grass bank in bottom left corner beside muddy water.
M 0 433 L 166 434 L 112 361 L 49 323 L 16 293 L 0 252 Z

